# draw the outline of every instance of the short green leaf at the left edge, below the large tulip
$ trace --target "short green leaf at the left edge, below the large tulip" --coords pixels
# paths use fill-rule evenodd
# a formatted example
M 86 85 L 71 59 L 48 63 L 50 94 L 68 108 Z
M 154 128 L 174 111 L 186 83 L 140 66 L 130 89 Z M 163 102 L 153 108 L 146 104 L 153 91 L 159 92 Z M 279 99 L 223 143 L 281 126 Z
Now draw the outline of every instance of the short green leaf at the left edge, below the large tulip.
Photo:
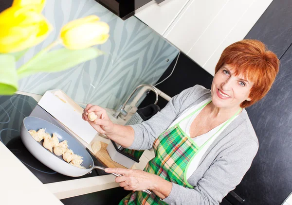
M 13 95 L 18 89 L 15 57 L 0 54 L 0 95 Z

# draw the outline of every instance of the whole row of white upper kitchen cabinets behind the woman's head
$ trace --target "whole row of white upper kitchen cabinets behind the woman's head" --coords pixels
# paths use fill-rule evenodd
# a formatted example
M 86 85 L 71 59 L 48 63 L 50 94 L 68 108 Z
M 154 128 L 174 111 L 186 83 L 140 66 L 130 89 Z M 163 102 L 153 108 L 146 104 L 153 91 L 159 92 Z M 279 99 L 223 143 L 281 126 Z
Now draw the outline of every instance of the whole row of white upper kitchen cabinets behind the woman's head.
M 178 1 L 171 0 L 164 5 L 168 7 L 153 4 L 143 10 L 144 16 L 139 18 L 214 75 L 222 51 L 243 39 L 272 1 L 183 0 L 180 8 L 173 8 Z M 170 11 L 173 15 L 168 17 L 168 21 L 157 20 Z M 175 19 L 170 21 L 175 13 Z M 151 15 L 152 20 L 146 19 Z

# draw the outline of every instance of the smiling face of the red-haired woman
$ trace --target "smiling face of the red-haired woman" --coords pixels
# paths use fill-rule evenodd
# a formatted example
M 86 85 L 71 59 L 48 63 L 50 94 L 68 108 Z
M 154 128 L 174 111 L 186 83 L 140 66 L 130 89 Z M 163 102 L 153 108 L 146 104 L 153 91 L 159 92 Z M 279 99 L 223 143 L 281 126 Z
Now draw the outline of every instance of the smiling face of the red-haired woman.
M 248 97 L 254 83 L 239 74 L 234 75 L 231 66 L 224 64 L 215 74 L 211 86 L 212 102 L 219 108 L 239 107 Z

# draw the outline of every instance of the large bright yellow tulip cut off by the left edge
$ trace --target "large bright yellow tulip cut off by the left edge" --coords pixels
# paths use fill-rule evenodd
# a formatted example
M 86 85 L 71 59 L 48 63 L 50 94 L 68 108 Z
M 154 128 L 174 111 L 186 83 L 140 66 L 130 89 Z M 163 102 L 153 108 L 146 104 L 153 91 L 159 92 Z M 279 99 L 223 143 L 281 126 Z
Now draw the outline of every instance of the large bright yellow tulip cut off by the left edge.
M 0 53 L 17 52 L 43 41 L 51 32 L 47 19 L 35 5 L 12 6 L 0 13 Z

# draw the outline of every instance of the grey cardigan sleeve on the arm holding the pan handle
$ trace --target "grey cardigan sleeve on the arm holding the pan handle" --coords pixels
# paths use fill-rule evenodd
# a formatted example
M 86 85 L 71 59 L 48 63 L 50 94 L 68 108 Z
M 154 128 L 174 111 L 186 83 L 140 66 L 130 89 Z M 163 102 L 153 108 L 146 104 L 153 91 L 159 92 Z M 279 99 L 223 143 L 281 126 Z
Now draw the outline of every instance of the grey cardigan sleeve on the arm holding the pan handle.
M 172 184 L 163 201 L 169 205 L 219 205 L 229 191 L 235 189 L 249 170 L 258 145 L 249 140 L 216 159 L 194 188 Z

